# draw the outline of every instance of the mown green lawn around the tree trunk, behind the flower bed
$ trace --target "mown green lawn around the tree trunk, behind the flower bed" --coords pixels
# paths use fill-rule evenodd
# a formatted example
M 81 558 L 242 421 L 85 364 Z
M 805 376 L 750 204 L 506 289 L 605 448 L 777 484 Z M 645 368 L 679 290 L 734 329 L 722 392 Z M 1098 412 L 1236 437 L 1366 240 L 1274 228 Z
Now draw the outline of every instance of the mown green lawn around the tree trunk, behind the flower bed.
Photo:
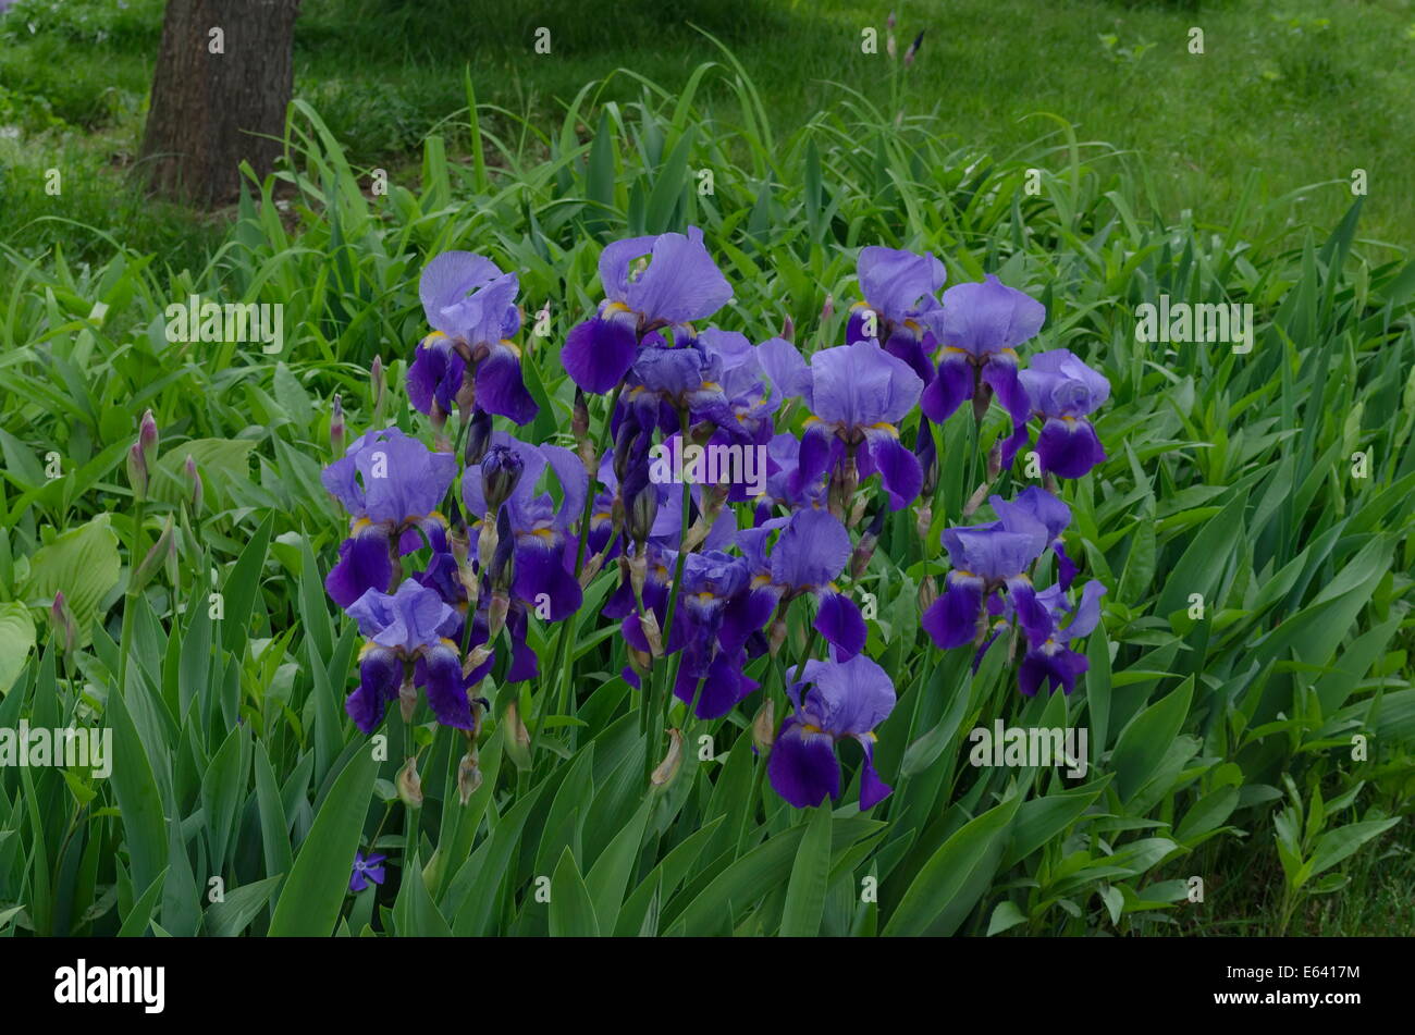
M 0 23 L 0 124 L 24 131 L 21 141 L 0 141 L 6 240 L 31 252 L 59 240 L 93 255 L 109 247 L 96 233 L 35 222 L 54 212 L 35 184 L 57 165 L 75 184 L 67 218 L 187 264 L 209 249 L 207 223 L 147 209 L 123 175 L 136 153 L 160 7 L 23 0 Z M 466 103 L 464 65 L 504 130 L 519 116 L 545 126 L 586 82 L 618 68 L 681 89 L 712 55 L 696 25 L 733 48 L 781 127 L 841 103 L 843 85 L 937 116 L 958 146 L 1043 161 L 1029 148 L 1046 112 L 1074 123 L 1084 140 L 1142 158 L 1162 218 L 1190 211 L 1223 223 L 1257 191 L 1261 201 L 1286 198 L 1281 216 L 1292 228 L 1334 225 L 1351 195 L 1315 185 L 1348 182 L 1363 168 L 1363 232 L 1395 245 L 1415 239 L 1405 204 L 1415 192 L 1404 146 L 1415 137 L 1404 103 L 1415 93 L 1408 0 L 908 3 L 897 8 L 899 51 L 917 30 L 927 34 L 897 83 L 884 54 L 886 13 L 884 4 L 842 0 L 627 0 L 606 17 L 573 0 L 536 8 L 488 0 L 467 17 L 451 0 L 310 0 L 296 31 L 296 93 L 355 165 L 406 171 L 423 137 Z M 549 55 L 532 48 L 542 25 Z M 1187 49 L 1194 25 L 1204 31 L 1201 57 Z M 866 27 L 880 33 L 873 57 L 860 51 Z M 633 76 L 616 75 L 600 98 L 625 103 L 638 89 Z M 709 110 L 736 103 L 724 85 L 702 99 Z M 454 153 L 466 144 L 464 136 L 449 140 Z

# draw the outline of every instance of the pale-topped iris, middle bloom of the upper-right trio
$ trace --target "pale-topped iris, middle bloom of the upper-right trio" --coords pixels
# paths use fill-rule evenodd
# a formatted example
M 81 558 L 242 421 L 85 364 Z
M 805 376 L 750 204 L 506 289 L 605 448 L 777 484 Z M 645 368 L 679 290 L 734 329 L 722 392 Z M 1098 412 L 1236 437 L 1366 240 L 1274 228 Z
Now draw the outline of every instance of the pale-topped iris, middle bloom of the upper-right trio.
M 992 393 L 1012 414 L 1013 435 L 1003 445 L 1003 465 L 1012 462 L 1017 431 L 1026 434 L 1030 411 L 1027 393 L 1017 380 L 1017 345 L 1041 329 L 1046 307 L 1036 298 L 1007 287 L 993 274 L 982 283 L 954 284 L 944 291 L 944 314 L 938 322 L 938 341 L 944 345 L 938 376 L 924 389 L 920 406 L 924 414 L 941 424 L 964 400 L 974 400 L 982 413 Z

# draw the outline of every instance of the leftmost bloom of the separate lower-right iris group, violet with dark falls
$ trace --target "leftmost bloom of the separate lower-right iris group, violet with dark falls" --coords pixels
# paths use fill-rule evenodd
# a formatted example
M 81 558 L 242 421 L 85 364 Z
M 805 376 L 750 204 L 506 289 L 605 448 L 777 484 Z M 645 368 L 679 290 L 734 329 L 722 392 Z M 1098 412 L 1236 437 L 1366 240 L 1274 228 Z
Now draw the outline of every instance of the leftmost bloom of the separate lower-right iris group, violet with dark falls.
M 944 547 L 954 570 L 921 625 L 945 650 L 986 635 L 993 597 L 1003 590 L 1012 597 L 1030 588 L 1024 573 L 1053 539 L 1026 506 L 1009 506 L 998 496 L 992 503 L 998 520 L 944 529 Z

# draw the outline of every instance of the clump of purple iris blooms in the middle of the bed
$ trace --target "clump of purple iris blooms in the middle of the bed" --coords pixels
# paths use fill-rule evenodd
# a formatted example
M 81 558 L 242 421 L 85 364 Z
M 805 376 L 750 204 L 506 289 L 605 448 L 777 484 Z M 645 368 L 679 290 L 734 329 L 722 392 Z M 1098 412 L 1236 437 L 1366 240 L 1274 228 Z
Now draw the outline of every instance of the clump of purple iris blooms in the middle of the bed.
M 996 276 L 944 290 L 935 256 L 872 246 L 859 256 L 862 298 L 843 341 L 802 355 L 790 321 L 756 344 L 708 324 L 733 290 L 696 228 L 614 242 L 599 276 L 603 301 L 559 352 L 574 385 L 566 448 L 519 437 L 539 407 L 515 342 L 516 274 L 468 252 L 423 270 L 432 331 L 406 390 L 433 447 L 393 426 L 372 428 L 324 471 L 350 515 L 325 587 L 366 641 L 347 701 L 359 730 L 374 732 L 393 703 L 410 724 L 426 701 L 466 737 L 466 802 L 480 783 L 484 680 L 529 680 L 550 697 L 560 673 L 531 649 L 531 622 L 565 622 L 604 571 L 614 587 L 600 609 L 618 624 L 647 762 L 659 758 L 669 698 L 683 727 L 750 710 L 784 800 L 838 800 L 843 766 L 859 756 L 859 806 L 873 807 L 890 795 L 873 747 L 896 691 L 870 657 L 850 590 L 890 515 L 913 505 L 918 534 L 930 536 L 934 426 L 965 402 L 975 433 L 993 402 L 1010 428 L 964 508 L 971 516 L 986 496 L 992 519 L 942 532 L 949 570 L 942 592 L 924 587 L 923 628 L 938 648 L 968 646 L 976 659 L 1007 636 L 1010 649 L 1024 645 L 1022 693 L 1073 690 L 1085 670 L 1074 643 L 1099 622 L 1105 590 L 1074 588 L 1058 479 L 1105 460 L 1091 416 L 1109 385 L 1067 349 L 1023 362 L 1046 320 L 1040 303 Z M 989 496 L 1033 431 L 1044 484 Z M 665 450 L 715 445 L 760 450 L 764 488 L 749 492 L 726 474 L 698 484 L 658 475 Z M 928 557 L 932 544 L 921 546 Z M 1053 568 L 1039 588 L 1039 573 Z M 763 657 L 766 667 L 754 665 Z M 509 739 L 526 741 L 514 708 L 507 721 Z M 654 786 L 672 779 L 683 741 L 679 728 L 664 732 L 668 758 L 645 772 Z M 842 754 L 845 741 L 859 754 Z M 412 761 L 400 792 L 408 773 L 416 779 Z M 416 788 L 405 795 L 417 797 Z

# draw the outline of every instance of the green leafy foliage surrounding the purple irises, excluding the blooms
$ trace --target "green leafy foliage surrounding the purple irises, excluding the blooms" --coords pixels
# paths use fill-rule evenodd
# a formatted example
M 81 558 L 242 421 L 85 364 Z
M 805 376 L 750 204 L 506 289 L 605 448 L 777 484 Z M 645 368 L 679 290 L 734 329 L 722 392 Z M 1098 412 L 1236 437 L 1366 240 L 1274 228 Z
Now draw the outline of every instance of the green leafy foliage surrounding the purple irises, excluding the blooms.
M 804 17 L 770 17 L 788 16 Z M 330 31 L 352 44 L 374 30 Z M 671 54 L 675 37 L 662 35 Z M 1033 126 L 1024 154 L 992 154 L 917 99 L 899 120 L 887 82 L 777 124 L 767 113 L 795 110 L 794 95 L 778 100 L 729 51 L 700 57 L 713 64 L 669 76 L 688 89 L 616 76 L 613 89 L 633 89 L 531 119 L 473 123 L 463 83 L 386 197 L 368 189 L 376 148 L 347 147 L 301 100 L 289 167 L 252 187 L 229 229 L 205 225 L 219 236 L 211 252 L 190 239 L 190 252 L 160 255 L 122 233 L 106 253 L 85 252 L 72 228 L 62 255 L 7 240 L 0 619 L 21 635 L 28 624 L 34 646 L 0 657 L 16 672 L 0 727 L 102 723 L 117 759 L 112 782 L 48 769 L 31 786 L 28 772 L 0 769 L 0 935 L 584 923 L 536 901 L 550 874 L 556 901 L 593 888 L 596 915 L 624 933 L 775 933 L 787 915 L 824 933 L 1395 933 L 1408 911 L 1388 923 L 1380 911 L 1409 901 L 1412 877 L 1415 266 L 1361 230 L 1377 195 L 1351 204 L 1334 185 L 1303 206 L 1245 181 L 1223 218 L 1166 215 L 1145 161 L 1085 146 L 1068 124 Z M 473 78 L 484 116 L 514 88 L 495 81 Z M 512 110 L 539 110 L 524 100 Z M 120 133 L 122 119 L 110 126 Z M 698 189 L 702 168 L 715 171 L 710 194 Z M 1319 204 L 1337 215 L 1292 222 Z M 143 218 L 153 233 L 167 226 Z M 426 329 L 416 280 L 430 256 L 474 247 L 519 273 L 528 311 L 552 307 L 550 337 L 524 338 L 545 417 L 519 434 L 569 443 L 558 345 L 600 297 L 600 246 L 689 223 L 736 287 L 715 322 L 754 341 L 787 318 L 808 352 L 839 341 L 866 243 L 932 250 L 949 283 L 999 273 L 1047 305 L 1026 353 L 1070 348 L 1112 386 L 1098 414 L 1109 460 L 1065 489 L 1068 551 L 1108 588 L 1091 670 L 1071 697 L 1026 700 L 1003 650 L 974 677 L 966 650 L 940 653 L 920 632 L 918 584 L 944 570 L 937 533 L 972 491 L 971 416 L 959 413 L 940 430 L 931 534 L 897 515 L 850 587 L 877 597 L 867 653 L 900 690 L 879 730 L 896 785 L 886 806 L 859 816 L 846 790 L 836 814 L 802 817 L 763 793 L 750 713 L 705 724 L 715 759 L 689 752 L 671 793 L 642 799 L 652 755 L 625 735 L 637 700 L 614 674 L 623 645 L 590 607 L 567 632 L 566 714 L 553 680 L 487 687 L 487 778 L 468 812 L 453 805 L 460 747 L 447 731 L 426 715 L 412 728 L 391 720 L 391 744 L 406 734 L 420 752 L 424 806 L 405 809 L 391 783 L 402 755 L 375 764 L 341 710 L 357 631 L 321 588 L 345 532 L 318 485 L 331 399 L 342 396 L 355 434 L 396 420 L 427 437 L 402 389 Z M 192 291 L 282 303 L 286 351 L 166 341 L 164 308 Z M 1252 304 L 1257 348 L 1136 341 L 1136 307 L 1162 293 Z M 375 356 L 389 376 L 382 406 L 369 393 Z M 146 407 L 170 476 L 140 510 L 122 467 Z M 1005 428 L 995 407 L 982 447 Z M 188 452 L 207 486 L 200 512 L 183 502 Z M 51 454 L 59 476 L 45 471 Z M 1013 471 L 998 491 L 1023 484 Z M 174 564 L 129 594 L 168 518 Z M 590 600 L 613 578 L 601 573 Z M 188 605 L 212 587 L 221 619 Z M 83 631 L 74 650 L 47 624 L 55 588 Z M 542 657 L 558 633 L 532 622 Z M 792 657 L 807 650 L 804 622 L 788 642 Z M 767 660 L 749 674 L 775 679 Z M 532 737 L 526 769 L 504 747 L 511 700 Z M 1088 782 L 966 765 L 968 730 L 996 718 L 1087 725 Z M 1353 756 L 1354 734 L 1368 758 Z M 178 821 L 190 838 L 168 837 Z M 328 898 L 354 844 L 389 854 L 389 881 Z M 614 894 L 594 874 L 620 857 L 628 875 Z M 986 879 L 949 885 L 974 867 Z M 208 874 L 243 889 L 238 905 L 195 894 Z M 1203 904 L 1186 899 L 1194 875 Z M 859 901 L 866 877 L 879 881 L 874 904 Z M 812 913 L 792 888 L 818 881 Z

